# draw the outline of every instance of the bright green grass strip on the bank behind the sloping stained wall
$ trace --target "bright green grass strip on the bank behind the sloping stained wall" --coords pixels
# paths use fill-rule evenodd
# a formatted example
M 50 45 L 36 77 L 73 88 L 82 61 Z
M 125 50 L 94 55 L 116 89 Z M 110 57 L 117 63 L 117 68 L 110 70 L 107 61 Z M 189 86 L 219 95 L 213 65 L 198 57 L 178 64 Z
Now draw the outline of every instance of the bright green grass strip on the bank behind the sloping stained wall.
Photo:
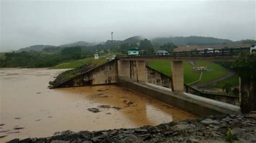
M 95 60 L 94 57 L 85 58 L 81 60 L 73 60 L 73 61 L 67 61 L 60 63 L 59 65 L 55 67 L 51 67 L 51 69 L 63 69 L 63 68 L 76 68 L 79 66 L 82 66 L 86 63 L 93 63 L 96 66 L 102 65 L 103 63 L 107 62 L 109 59 L 98 59 Z

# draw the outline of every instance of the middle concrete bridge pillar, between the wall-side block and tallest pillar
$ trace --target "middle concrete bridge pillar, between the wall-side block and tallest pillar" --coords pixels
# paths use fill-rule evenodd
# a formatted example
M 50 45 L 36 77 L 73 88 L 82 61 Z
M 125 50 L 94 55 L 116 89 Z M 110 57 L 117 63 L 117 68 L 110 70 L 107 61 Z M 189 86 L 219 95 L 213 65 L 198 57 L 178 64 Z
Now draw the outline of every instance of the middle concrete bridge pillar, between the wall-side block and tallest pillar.
M 137 64 L 137 81 L 146 82 L 146 63 L 145 61 L 136 61 Z

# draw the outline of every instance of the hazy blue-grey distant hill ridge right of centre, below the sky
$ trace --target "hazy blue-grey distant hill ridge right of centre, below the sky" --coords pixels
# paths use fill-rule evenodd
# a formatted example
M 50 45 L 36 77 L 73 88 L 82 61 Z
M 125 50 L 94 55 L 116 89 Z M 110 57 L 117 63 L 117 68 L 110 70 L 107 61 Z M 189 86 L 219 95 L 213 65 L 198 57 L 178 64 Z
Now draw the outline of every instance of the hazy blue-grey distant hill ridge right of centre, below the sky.
M 199 36 L 154 38 L 151 41 L 159 44 L 173 42 L 176 45 L 234 44 L 234 41 L 228 40 L 228 39 L 219 39 L 219 38 L 213 38 L 213 37 L 199 37 Z

